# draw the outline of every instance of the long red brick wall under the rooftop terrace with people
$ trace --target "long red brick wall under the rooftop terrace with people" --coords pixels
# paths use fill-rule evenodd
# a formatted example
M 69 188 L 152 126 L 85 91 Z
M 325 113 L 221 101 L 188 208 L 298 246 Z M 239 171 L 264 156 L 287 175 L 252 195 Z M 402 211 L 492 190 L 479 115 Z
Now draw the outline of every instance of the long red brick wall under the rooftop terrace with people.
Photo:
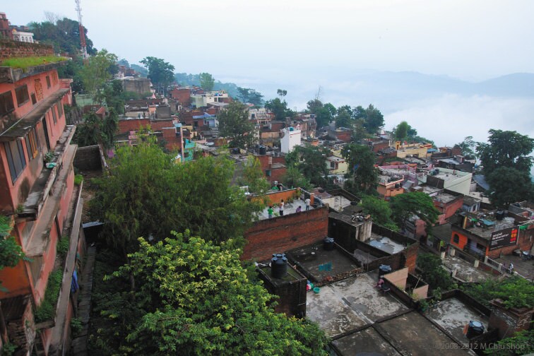
M 271 258 L 297 247 L 319 242 L 328 233 L 328 208 L 326 206 L 302 213 L 294 213 L 254 223 L 244 237 L 242 259 L 258 261 Z

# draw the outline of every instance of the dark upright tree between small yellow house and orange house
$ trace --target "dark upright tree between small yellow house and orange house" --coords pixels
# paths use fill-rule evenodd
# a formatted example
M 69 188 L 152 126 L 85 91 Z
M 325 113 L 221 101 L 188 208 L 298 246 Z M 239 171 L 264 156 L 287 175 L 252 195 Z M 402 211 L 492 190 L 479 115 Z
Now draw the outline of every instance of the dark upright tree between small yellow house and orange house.
M 350 143 L 343 147 L 341 155 L 347 160 L 349 172 L 345 188 L 356 195 L 376 194 L 378 170 L 374 167 L 375 155 L 367 146 Z

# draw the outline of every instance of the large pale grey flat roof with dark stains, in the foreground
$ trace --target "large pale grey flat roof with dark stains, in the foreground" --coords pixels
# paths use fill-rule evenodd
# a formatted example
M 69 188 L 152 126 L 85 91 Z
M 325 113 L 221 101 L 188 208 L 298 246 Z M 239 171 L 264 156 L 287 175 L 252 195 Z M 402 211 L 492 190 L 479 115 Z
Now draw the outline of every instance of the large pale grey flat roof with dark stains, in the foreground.
M 309 292 L 307 318 L 333 337 L 408 310 L 393 295 L 374 287 L 377 277 L 376 273 L 362 273 L 321 287 L 319 294 Z

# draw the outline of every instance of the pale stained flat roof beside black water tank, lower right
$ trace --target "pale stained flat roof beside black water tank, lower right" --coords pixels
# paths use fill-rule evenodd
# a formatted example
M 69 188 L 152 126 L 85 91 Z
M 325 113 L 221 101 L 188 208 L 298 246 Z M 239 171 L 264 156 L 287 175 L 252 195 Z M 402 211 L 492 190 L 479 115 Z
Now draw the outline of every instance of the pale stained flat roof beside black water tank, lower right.
M 469 321 L 480 321 L 487 330 L 487 317 L 457 298 L 442 300 L 437 307 L 427 311 L 426 315 L 465 343 L 469 343 L 469 339 L 463 334 L 463 327 L 469 324 Z

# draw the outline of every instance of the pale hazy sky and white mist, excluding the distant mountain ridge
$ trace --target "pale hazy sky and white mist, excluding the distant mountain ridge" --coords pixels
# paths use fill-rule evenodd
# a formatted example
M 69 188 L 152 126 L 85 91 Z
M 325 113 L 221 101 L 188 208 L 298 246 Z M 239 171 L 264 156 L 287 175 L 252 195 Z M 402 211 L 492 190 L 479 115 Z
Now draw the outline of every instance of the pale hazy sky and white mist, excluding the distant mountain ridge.
M 74 0 L 2 5 L 14 25 L 45 20 L 45 11 L 77 19 Z M 297 109 L 321 85 L 324 102 L 373 102 L 384 110 L 386 129 L 407 120 L 438 144 L 468 135 L 485 140 L 490 128 L 534 136 L 531 98 L 444 95 L 403 102 L 398 95 L 396 104 L 351 96 L 355 88 L 365 91 L 354 80 L 365 71 L 467 81 L 534 73 L 534 0 L 82 0 L 81 7 L 95 47 L 132 64 L 160 57 L 177 72 L 207 71 L 259 89 L 267 99 L 285 88 Z

